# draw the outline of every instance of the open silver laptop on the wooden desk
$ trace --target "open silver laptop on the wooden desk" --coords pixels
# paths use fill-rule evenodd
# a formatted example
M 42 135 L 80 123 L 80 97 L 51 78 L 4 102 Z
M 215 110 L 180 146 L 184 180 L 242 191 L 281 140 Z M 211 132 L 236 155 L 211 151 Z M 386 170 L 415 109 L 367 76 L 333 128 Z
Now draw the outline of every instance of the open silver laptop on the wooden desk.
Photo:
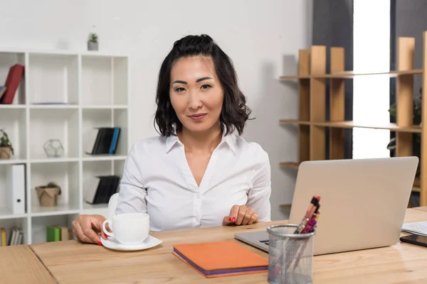
M 319 195 L 315 255 L 394 245 L 417 165 L 412 156 L 305 161 L 297 173 L 289 223 L 300 224 L 313 195 Z M 235 238 L 268 252 L 265 230 Z

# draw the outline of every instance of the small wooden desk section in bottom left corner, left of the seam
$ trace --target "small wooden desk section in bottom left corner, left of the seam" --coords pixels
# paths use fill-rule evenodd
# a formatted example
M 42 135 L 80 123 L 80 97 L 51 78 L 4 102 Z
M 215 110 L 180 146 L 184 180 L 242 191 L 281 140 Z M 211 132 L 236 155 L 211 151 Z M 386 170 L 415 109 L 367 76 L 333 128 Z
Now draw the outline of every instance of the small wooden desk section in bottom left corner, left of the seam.
M 29 246 L 0 247 L 0 283 L 56 283 Z

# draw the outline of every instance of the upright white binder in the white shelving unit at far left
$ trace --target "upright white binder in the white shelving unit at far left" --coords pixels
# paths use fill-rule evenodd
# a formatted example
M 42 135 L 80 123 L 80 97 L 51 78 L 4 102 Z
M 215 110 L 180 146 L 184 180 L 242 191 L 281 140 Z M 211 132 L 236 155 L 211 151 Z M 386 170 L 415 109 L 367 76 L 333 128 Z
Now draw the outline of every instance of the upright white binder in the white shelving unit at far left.
M 11 214 L 25 214 L 25 165 L 9 165 L 6 177 L 6 206 Z

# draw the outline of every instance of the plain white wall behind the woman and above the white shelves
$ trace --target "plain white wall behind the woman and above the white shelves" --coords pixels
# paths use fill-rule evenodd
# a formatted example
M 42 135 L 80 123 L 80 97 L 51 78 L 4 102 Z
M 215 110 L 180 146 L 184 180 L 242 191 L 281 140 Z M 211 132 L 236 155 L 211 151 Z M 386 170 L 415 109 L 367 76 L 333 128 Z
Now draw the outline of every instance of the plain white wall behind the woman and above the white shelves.
M 152 124 L 157 74 L 174 40 L 211 35 L 233 59 L 256 117 L 244 137 L 270 155 L 272 217 L 279 219 L 288 216 L 278 205 L 292 200 L 295 171 L 278 163 L 297 159 L 297 131 L 278 120 L 297 117 L 297 90 L 278 77 L 296 72 L 297 50 L 311 44 L 311 1 L 3 0 L 0 47 L 84 50 L 95 25 L 100 50 L 132 56 L 132 141 L 137 141 L 157 135 Z

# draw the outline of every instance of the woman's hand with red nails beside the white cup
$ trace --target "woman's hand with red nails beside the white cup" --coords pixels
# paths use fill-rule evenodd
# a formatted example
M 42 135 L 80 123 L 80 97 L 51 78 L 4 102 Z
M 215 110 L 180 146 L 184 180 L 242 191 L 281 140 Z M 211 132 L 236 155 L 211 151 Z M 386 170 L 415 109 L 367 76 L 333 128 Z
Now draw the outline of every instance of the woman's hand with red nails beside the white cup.
M 80 215 L 71 223 L 73 233 L 80 241 L 102 246 L 100 238 L 107 239 L 107 235 L 102 231 L 104 221 L 105 217 L 102 215 Z

